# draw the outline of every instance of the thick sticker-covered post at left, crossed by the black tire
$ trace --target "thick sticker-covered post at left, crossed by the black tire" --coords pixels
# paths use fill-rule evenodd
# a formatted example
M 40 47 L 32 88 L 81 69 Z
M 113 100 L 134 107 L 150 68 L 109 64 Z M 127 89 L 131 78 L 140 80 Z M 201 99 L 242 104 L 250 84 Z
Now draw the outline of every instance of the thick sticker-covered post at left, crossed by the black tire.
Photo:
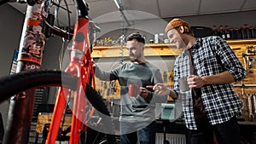
M 40 15 L 41 4 L 39 1 L 33 6 L 27 6 L 16 72 L 34 70 L 41 66 L 45 42 L 44 25 Z M 35 89 L 30 89 L 10 99 L 4 142 L 27 143 L 35 93 Z

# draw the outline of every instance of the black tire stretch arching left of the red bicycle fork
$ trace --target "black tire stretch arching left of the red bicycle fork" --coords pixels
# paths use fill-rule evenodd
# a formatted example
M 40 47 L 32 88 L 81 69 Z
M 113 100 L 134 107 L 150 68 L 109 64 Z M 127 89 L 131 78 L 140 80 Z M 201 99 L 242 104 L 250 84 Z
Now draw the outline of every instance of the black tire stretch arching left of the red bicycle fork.
M 0 79 L 0 102 L 26 89 L 44 86 L 65 86 L 75 89 L 76 79 L 58 70 L 18 72 Z

